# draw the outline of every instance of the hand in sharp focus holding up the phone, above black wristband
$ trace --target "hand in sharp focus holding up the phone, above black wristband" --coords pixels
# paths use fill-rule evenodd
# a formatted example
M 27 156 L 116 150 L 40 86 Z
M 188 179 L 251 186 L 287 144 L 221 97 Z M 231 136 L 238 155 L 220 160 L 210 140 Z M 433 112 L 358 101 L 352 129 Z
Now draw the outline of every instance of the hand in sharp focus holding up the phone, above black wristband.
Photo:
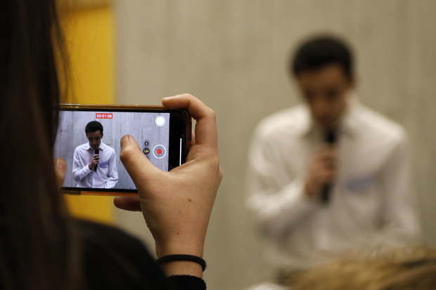
M 195 142 L 186 163 L 169 172 L 161 171 L 151 164 L 132 136 L 124 136 L 120 159 L 138 189 L 139 199 L 115 197 L 114 203 L 120 209 L 141 209 L 155 239 L 158 257 L 171 254 L 202 257 L 210 213 L 222 180 L 215 114 L 188 94 L 164 98 L 162 105 L 169 109 L 185 108 L 197 121 Z

